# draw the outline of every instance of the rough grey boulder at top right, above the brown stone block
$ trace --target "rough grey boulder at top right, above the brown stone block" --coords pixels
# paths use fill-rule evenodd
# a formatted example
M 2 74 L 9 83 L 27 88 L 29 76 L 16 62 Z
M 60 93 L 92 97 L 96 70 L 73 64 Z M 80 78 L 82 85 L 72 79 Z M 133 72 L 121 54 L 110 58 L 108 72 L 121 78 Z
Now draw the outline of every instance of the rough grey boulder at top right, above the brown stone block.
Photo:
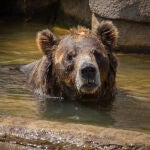
M 150 22 L 149 0 L 89 0 L 91 11 L 109 19 Z

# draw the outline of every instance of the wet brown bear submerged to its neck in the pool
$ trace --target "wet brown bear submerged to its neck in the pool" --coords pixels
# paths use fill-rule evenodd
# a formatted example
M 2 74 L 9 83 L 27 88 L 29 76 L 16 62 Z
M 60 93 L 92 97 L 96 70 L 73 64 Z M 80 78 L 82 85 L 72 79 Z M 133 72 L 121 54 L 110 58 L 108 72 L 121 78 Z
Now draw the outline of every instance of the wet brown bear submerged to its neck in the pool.
M 106 101 L 115 96 L 118 32 L 109 21 L 93 33 L 78 26 L 60 38 L 48 29 L 37 34 L 44 56 L 22 67 L 39 94 L 70 100 Z

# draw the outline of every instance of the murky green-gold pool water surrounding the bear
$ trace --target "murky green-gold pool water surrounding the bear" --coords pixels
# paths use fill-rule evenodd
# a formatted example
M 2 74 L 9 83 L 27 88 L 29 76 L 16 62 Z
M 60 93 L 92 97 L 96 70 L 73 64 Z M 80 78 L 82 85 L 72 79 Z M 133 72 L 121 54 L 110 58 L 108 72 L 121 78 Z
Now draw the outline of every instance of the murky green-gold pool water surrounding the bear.
M 121 55 L 117 75 L 119 94 L 109 107 L 89 106 L 59 99 L 37 98 L 18 69 L 41 57 L 36 32 L 59 27 L 39 23 L 0 23 L 0 115 L 80 122 L 150 131 L 150 55 Z

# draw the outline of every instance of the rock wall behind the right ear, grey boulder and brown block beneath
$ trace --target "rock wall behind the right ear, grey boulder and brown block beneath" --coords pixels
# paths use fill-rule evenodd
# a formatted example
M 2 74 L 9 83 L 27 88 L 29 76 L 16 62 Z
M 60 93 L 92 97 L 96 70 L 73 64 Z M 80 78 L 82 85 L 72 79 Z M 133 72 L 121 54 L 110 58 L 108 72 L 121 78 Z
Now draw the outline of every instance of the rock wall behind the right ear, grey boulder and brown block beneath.
M 149 0 L 89 0 L 92 30 L 102 20 L 112 20 L 119 30 L 118 49 L 150 52 Z

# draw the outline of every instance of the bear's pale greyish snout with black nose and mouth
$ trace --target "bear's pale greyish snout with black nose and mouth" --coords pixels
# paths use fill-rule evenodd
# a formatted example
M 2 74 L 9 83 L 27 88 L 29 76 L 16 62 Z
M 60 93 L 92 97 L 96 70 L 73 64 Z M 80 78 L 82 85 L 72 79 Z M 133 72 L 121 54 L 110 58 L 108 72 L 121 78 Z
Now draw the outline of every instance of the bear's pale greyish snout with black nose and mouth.
M 76 87 L 82 94 L 94 94 L 101 85 L 100 71 L 94 58 L 84 54 L 78 58 Z

